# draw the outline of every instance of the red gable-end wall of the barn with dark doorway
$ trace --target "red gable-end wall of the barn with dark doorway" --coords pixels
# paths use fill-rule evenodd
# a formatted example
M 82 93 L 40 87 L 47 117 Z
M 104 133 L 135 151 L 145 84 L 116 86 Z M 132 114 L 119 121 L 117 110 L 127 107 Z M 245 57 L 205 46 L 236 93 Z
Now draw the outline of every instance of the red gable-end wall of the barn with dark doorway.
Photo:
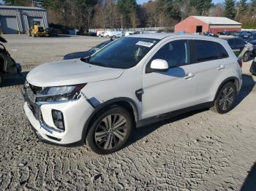
M 175 26 L 175 32 L 184 31 L 186 33 L 194 34 L 196 33 L 197 26 L 203 26 L 202 32 L 208 31 L 208 24 L 197 20 L 195 17 L 187 17 L 187 19 L 182 20 Z

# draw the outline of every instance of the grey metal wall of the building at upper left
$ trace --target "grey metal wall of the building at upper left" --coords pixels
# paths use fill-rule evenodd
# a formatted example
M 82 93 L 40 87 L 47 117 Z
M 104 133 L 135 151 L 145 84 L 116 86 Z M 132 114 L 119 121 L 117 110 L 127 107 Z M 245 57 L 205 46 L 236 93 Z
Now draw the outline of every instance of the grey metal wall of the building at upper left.
M 29 17 L 42 18 L 42 26 L 48 28 L 47 11 L 45 9 L 0 8 L 0 17 L 16 17 L 20 33 L 26 34 L 29 29 Z

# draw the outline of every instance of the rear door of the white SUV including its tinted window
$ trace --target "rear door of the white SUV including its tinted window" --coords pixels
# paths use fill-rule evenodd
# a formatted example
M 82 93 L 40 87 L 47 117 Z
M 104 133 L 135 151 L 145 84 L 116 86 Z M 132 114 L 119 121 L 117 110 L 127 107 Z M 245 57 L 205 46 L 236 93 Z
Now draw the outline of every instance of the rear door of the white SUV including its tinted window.
M 195 102 L 212 101 L 213 88 L 226 69 L 227 51 L 218 42 L 192 40 L 192 65 L 195 73 Z

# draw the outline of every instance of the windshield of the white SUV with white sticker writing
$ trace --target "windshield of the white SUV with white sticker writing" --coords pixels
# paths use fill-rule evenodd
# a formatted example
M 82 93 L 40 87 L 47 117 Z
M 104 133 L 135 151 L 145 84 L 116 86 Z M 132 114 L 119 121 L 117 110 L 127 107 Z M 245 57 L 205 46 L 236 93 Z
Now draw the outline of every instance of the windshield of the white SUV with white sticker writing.
M 88 63 L 117 69 L 135 66 L 157 44 L 157 39 L 121 38 L 89 58 Z

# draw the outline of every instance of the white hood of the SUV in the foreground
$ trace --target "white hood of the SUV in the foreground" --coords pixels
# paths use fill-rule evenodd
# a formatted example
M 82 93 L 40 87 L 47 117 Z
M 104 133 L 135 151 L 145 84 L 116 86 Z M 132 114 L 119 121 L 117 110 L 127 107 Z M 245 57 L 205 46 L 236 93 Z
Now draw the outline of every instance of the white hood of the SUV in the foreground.
M 38 87 L 77 85 L 116 79 L 121 76 L 123 71 L 123 69 L 91 65 L 76 59 L 45 63 L 37 66 L 37 68 L 29 72 L 26 80 L 31 85 Z

